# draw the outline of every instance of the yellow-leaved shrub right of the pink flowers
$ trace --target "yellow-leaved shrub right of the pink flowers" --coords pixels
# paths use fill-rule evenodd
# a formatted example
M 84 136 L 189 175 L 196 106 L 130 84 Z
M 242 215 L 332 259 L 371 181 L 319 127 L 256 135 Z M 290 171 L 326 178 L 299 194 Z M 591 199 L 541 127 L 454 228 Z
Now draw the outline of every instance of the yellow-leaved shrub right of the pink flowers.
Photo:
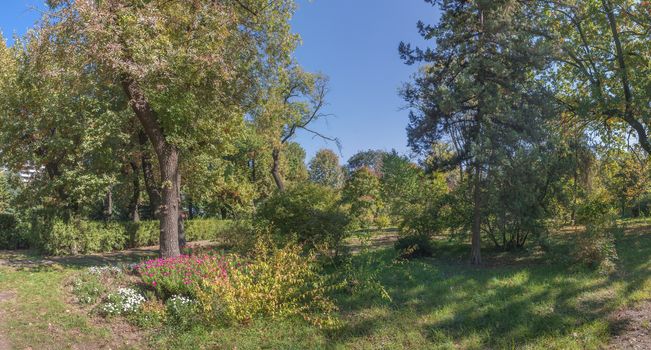
M 302 255 L 298 245 L 277 249 L 265 241 L 255 252 L 227 278 L 205 281 L 199 293 L 205 315 L 224 322 L 300 316 L 319 326 L 336 324 L 336 306 L 326 296 L 336 287 L 319 274 L 314 255 Z

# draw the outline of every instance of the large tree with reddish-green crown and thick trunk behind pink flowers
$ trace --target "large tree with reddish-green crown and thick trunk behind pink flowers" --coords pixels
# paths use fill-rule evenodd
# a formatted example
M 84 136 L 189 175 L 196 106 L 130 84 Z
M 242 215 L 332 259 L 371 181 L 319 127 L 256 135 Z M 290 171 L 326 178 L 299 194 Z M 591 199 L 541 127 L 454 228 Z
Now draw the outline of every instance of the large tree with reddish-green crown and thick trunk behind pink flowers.
M 158 160 L 163 257 L 179 255 L 180 164 L 219 152 L 259 82 L 289 60 L 291 0 L 51 1 L 42 35 L 82 50 L 86 67 L 122 89 Z M 72 33 L 72 34 L 71 34 Z

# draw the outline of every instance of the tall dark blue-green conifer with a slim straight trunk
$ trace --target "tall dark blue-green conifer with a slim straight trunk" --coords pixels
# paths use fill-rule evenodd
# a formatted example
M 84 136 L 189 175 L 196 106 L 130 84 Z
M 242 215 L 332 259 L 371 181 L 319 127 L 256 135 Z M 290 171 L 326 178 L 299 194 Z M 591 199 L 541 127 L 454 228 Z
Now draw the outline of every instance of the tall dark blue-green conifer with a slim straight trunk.
M 430 1 L 431 2 L 431 1 Z M 465 163 L 473 183 L 471 262 L 481 263 L 482 208 L 489 165 L 513 152 L 546 117 L 546 92 L 535 84 L 547 44 L 530 31 L 535 6 L 514 0 L 437 2 L 438 25 L 419 22 L 436 48 L 400 44 L 407 64 L 425 65 L 402 91 L 411 107 L 409 144 L 427 154 L 441 139 L 459 145 L 451 164 Z

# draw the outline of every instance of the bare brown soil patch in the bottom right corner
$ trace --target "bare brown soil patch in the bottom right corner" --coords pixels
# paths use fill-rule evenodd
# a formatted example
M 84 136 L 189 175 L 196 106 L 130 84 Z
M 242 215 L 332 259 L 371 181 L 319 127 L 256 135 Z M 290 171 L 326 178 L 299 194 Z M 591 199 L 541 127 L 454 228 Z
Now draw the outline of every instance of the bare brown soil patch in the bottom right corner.
M 607 349 L 651 349 L 651 301 L 615 312 Z

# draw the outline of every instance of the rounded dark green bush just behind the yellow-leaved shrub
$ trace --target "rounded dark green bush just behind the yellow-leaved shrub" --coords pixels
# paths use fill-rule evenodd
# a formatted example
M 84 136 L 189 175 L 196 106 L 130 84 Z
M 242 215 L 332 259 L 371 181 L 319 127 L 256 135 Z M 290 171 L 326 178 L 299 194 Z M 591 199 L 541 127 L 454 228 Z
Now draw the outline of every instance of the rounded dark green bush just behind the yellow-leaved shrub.
M 349 221 L 339 207 L 337 192 L 312 183 L 275 193 L 260 206 L 257 216 L 281 244 L 297 241 L 309 249 L 325 246 L 335 252 Z

